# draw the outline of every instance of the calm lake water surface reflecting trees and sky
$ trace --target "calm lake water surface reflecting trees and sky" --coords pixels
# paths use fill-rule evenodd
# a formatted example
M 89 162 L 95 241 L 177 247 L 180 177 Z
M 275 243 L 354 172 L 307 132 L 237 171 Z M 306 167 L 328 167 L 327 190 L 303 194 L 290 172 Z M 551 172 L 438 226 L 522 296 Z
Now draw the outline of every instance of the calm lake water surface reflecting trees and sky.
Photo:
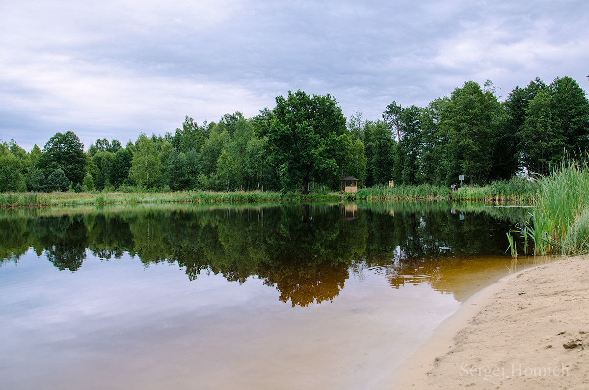
M 461 302 L 522 266 L 505 232 L 525 211 L 4 211 L 0 388 L 393 387 L 393 369 Z

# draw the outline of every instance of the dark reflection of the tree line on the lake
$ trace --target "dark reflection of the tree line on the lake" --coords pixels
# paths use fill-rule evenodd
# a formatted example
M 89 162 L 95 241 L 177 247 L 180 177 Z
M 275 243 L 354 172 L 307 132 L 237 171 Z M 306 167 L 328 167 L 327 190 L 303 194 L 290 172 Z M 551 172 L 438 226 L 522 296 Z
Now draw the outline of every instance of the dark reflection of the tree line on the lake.
M 6 211 L 0 256 L 16 262 L 32 247 L 73 272 L 87 249 L 105 260 L 127 252 L 145 266 L 176 263 L 190 280 L 201 272 L 239 283 L 256 276 L 276 287 L 283 302 L 307 306 L 333 300 L 350 269 L 361 277 L 372 266 L 502 254 L 505 231 L 513 226 L 509 218 L 501 226 L 482 208 L 460 220 L 445 203 L 359 204 L 353 218 L 341 210 L 283 204 Z

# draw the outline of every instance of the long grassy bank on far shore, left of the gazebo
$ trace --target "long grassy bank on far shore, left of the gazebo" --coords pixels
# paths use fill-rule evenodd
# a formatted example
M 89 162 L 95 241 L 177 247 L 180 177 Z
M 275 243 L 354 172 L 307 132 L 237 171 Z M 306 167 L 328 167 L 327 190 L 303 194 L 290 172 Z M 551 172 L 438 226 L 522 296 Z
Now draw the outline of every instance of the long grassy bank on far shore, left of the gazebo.
M 216 201 L 301 201 L 339 200 L 339 194 L 295 194 L 279 192 L 178 191 L 165 193 L 11 193 L 0 194 L 0 207 L 40 207 L 80 204 L 198 203 Z

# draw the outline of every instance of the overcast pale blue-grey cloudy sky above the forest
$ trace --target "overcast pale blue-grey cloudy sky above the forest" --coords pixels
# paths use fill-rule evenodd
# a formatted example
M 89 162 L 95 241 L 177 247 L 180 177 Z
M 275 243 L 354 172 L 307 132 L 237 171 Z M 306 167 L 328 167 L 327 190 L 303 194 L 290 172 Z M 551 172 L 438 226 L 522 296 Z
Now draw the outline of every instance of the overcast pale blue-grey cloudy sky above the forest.
M 0 0 L 0 138 L 125 144 L 289 90 L 365 119 L 467 80 L 502 99 L 536 76 L 588 91 L 588 21 L 587 0 Z

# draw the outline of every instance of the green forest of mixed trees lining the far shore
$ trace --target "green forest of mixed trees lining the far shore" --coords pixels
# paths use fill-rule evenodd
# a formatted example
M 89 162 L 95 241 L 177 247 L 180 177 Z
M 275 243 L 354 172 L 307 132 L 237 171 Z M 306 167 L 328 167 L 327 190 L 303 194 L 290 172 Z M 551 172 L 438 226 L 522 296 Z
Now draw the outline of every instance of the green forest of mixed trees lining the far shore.
M 0 192 L 300 191 L 395 184 L 484 185 L 547 174 L 562 156 L 589 150 L 589 101 L 577 81 L 535 78 L 500 101 L 491 81 L 466 81 L 426 107 L 393 101 L 382 118 L 348 120 L 331 95 L 276 97 L 253 118 L 240 111 L 174 132 L 141 133 L 125 146 L 98 138 L 84 150 L 72 133 L 41 149 L 0 144 Z

